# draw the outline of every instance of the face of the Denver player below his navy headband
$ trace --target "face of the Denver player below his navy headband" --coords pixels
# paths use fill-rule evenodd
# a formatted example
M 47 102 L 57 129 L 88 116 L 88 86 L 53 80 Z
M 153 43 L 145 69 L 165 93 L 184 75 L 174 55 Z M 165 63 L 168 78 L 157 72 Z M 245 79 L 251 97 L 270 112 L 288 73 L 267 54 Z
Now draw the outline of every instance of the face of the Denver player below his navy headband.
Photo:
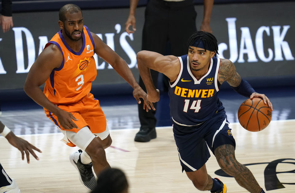
M 208 69 L 210 59 L 214 56 L 215 52 L 190 46 L 188 48 L 188 58 L 190 60 L 190 67 L 193 71 L 200 71 L 204 68 Z

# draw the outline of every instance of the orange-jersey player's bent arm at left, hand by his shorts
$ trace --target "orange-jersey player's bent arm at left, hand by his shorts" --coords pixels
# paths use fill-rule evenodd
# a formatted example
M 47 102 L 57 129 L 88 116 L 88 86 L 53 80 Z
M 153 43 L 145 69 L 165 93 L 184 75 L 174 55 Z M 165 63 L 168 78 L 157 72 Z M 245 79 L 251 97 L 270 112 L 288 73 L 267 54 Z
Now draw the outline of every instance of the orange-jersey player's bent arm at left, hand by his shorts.
M 50 73 L 54 68 L 59 68 L 62 63 L 61 51 L 56 45 L 50 44 L 34 62 L 29 70 L 26 78 L 24 90 L 26 94 L 32 98 L 36 103 L 43 106 L 58 117 L 58 121 L 64 129 L 77 128 L 77 125 L 71 120 L 76 120 L 74 116 L 61 110 L 55 106 L 44 95 L 43 91 L 39 88 L 48 79 Z

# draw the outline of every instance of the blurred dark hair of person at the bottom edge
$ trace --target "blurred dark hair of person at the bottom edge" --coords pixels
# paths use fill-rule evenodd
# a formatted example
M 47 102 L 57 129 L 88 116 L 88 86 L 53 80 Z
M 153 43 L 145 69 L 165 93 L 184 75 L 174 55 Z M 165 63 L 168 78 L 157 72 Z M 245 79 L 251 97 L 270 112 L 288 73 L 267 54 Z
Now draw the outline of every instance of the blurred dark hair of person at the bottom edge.
M 128 188 L 124 172 L 117 168 L 108 168 L 100 172 L 97 185 L 91 193 L 121 193 Z

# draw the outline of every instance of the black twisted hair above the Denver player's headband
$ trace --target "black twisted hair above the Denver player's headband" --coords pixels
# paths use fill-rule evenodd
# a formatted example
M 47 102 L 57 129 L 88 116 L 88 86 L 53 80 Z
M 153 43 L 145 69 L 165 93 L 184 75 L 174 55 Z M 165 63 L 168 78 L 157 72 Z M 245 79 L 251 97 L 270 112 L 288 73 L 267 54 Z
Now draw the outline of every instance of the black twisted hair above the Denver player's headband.
M 205 50 L 206 48 L 210 51 L 215 51 L 215 56 L 218 54 L 218 44 L 216 37 L 209 32 L 203 32 L 203 31 L 196 31 L 191 35 L 191 37 L 187 40 L 187 47 L 190 47 L 191 45 L 195 44 L 195 42 L 203 41 Z

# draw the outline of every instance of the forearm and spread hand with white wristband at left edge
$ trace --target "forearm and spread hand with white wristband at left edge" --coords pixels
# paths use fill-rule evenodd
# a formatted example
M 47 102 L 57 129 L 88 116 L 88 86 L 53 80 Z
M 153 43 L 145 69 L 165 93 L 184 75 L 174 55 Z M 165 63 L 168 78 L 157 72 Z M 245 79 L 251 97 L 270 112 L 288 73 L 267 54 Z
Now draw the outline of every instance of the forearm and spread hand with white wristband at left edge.
M 36 160 L 39 160 L 38 156 L 35 154 L 33 149 L 40 153 L 42 153 L 42 151 L 36 148 L 34 145 L 30 144 L 28 141 L 15 136 L 14 133 L 10 131 L 10 129 L 8 129 L 8 127 L 6 127 L 1 121 L 0 121 L 0 134 L 3 137 L 6 137 L 8 142 L 14 147 L 16 147 L 22 153 L 22 160 L 25 159 L 25 153 L 26 153 L 28 164 L 30 163 L 29 153 L 31 153 Z

